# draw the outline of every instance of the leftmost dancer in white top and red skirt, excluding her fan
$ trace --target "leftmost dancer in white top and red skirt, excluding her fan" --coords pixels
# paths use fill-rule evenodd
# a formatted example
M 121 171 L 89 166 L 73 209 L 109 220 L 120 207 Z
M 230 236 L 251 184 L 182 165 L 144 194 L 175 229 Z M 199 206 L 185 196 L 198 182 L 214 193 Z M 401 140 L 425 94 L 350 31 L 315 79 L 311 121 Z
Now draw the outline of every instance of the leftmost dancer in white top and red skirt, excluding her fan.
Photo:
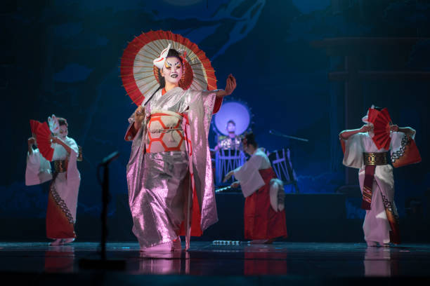
M 74 223 L 81 181 L 77 170 L 79 149 L 74 139 L 67 137 L 67 121 L 64 118 L 56 118 L 53 115 L 48 121 L 54 135 L 54 172 L 51 173 L 51 164 L 41 156 L 39 149 L 33 149 L 37 142 L 34 137 L 30 137 L 25 184 L 41 184 L 52 179 L 46 210 L 46 236 L 54 240 L 50 245 L 63 245 L 72 243 L 76 238 Z

